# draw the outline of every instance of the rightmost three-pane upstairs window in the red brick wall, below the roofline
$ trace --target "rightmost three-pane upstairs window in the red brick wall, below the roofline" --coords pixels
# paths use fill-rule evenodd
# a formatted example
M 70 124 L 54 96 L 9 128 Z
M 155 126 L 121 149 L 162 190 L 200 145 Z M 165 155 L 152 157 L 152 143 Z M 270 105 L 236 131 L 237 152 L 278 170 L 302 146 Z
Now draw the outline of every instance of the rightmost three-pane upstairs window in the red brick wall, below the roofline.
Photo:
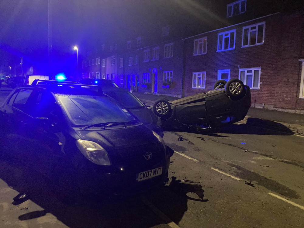
M 264 43 L 265 22 L 243 27 L 242 47 Z

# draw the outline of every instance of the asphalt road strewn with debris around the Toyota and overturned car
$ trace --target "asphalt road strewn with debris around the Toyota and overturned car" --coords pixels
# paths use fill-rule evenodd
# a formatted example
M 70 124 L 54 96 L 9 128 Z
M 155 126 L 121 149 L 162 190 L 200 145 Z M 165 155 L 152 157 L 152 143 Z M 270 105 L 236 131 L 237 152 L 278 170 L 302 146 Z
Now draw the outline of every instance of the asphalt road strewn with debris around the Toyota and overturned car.
M 233 124 L 167 131 L 164 140 L 174 150 L 168 185 L 73 206 L 39 173 L 0 156 L 0 227 L 304 227 L 304 137 Z M 31 195 L 14 205 L 19 192 Z

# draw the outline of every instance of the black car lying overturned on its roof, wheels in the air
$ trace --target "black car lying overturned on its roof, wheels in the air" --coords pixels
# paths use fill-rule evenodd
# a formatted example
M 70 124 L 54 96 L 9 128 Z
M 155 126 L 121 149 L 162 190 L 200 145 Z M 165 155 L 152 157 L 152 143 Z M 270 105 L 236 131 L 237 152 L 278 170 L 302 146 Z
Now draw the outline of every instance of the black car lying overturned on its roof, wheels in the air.
M 251 106 L 250 88 L 238 79 L 216 81 L 209 92 L 175 101 L 157 100 L 153 112 L 163 127 L 208 130 L 236 123 Z

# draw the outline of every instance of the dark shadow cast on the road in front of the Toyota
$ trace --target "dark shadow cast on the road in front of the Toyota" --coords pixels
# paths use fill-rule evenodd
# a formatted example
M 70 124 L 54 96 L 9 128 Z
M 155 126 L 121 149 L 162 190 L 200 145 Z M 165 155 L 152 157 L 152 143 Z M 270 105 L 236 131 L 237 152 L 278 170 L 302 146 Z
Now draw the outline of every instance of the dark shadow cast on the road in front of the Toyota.
M 0 148 L 0 153 L 2 152 Z M 163 221 L 141 201 L 140 195 L 116 200 L 94 199 L 94 202 L 79 199 L 76 205 L 67 205 L 57 199 L 51 181 L 17 159 L 8 155 L 3 156 L 3 153 L 0 156 L 0 178 L 17 192 L 29 193 L 29 199 L 43 208 L 19 215 L 18 219 L 22 221 L 51 213 L 69 227 L 144 228 L 163 224 Z M 193 195 L 197 197 L 187 196 L 189 192 L 194 192 Z M 151 190 L 144 195 L 148 196 L 147 199 L 152 203 L 156 203 L 165 215 L 178 223 L 187 210 L 189 199 L 206 201 L 202 199 L 203 192 L 201 185 L 175 178 L 169 185 Z

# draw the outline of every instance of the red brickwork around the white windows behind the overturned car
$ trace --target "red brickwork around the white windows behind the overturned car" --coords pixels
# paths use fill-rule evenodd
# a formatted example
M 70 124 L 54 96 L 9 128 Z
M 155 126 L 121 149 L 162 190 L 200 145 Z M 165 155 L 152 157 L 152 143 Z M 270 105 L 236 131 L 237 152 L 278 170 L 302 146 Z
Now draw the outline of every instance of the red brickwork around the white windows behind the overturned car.
M 260 88 L 251 90 L 253 104 L 295 109 L 297 102 L 297 109 L 304 109 L 304 101 L 297 101 L 298 59 L 303 44 L 302 16 L 301 13 L 275 14 L 186 39 L 184 96 L 211 90 L 217 81 L 218 70 L 230 69 L 232 79 L 239 78 L 239 68 L 261 67 Z M 241 47 L 243 26 L 263 21 L 264 44 Z M 236 29 L 234 50 L 217 52 L 218 33 L 232 29 Z M 208 41 L 207 53 L 193 56 L 194 39 L 205 36 Z M 192 89 L 192 73 L 199 71 L 206 71 L 206 88 Z

